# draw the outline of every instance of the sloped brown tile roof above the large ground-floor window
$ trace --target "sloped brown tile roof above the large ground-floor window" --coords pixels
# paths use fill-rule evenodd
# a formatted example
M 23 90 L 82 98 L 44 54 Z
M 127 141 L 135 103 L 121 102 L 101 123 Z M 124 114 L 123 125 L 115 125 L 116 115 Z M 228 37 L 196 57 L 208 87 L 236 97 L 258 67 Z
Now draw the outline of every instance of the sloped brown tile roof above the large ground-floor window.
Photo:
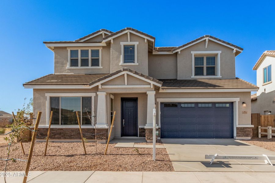
M 26 82 L 25 85 L 87 85 L 108 74 L 48 74 L 35 80 Z

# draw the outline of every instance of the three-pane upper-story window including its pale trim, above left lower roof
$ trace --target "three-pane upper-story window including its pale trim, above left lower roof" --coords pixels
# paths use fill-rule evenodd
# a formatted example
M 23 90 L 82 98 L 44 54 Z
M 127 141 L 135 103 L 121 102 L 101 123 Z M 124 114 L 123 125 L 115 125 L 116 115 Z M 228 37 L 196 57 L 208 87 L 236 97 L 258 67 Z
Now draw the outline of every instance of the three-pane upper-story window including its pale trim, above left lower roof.
M 68 47 L 67 49 L 69 69 L 102 68 L 102 47 Z

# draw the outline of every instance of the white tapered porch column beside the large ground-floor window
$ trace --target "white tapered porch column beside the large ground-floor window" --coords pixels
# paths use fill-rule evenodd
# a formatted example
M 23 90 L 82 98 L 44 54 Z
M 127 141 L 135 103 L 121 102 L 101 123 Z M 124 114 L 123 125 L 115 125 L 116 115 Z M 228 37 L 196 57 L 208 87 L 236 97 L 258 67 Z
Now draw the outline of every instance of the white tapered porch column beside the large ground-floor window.
M 97 127 L 108 128 L 106 110 L 106 92 L 97 92 Z

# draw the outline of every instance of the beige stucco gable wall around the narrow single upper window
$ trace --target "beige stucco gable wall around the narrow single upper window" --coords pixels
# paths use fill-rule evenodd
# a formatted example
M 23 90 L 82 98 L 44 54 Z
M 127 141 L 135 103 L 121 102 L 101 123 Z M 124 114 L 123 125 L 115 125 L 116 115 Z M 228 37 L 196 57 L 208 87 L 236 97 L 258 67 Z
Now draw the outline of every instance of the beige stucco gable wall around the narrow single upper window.
M 127 42 L 128 35 L 123 34 L 113 39 L 111 44 L 111 73 L 121 68 L 127 67 L 132 70 L 141 72 L 148 75 L 148 44 L 145 43 L 145 39 L 130 33 L 130 41 L 138 41 L 137 45 L 137 63 L 138 65 L 119 65 L 121 63 L 121 45 L 120 42 Z

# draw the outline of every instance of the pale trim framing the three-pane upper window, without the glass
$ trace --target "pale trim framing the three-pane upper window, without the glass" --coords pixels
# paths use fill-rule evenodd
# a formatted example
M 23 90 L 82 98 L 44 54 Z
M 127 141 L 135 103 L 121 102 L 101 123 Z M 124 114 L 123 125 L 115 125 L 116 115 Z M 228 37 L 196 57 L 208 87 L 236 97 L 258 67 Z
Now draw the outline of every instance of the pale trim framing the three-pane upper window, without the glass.
M 81 66 L 81 51 L 80 50 L 89 50 L 89 66 L 82 67 Z M 102 46 L 94 46 L 94 47 L 67 47 L 68 50 L 68 66 L 67 69 L 102 69 L 101 65 L 101 52 Z M 78 67 L 71 67 L 71 50 L 78 50 Z M 92 58 L 91 58 L 91 50 L 99 50 L 99 66 L 91 66 Z

